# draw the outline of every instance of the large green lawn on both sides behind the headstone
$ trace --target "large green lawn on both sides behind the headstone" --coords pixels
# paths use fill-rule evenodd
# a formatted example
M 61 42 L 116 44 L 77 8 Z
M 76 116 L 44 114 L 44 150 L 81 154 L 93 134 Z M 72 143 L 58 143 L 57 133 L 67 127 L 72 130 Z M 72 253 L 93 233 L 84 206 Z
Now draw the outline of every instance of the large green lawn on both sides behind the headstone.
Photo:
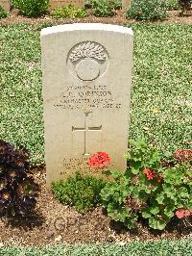
M 0 138 L 43 161 L 39 32 L 44 25 L 0 27 Z M 192 141 L 192 26 L 129 25 L 134 32 L 130 136 L 169 158 Z M 115 141 L 114 141 L 115 143 Z

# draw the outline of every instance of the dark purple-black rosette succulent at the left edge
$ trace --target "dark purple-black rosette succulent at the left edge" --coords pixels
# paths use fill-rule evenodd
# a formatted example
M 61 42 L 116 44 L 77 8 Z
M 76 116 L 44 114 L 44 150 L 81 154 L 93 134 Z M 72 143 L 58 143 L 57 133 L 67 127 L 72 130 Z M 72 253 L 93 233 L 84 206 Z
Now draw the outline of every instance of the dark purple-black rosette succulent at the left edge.
M 36 206 L 34 179 L 28 175 L 30 153 L 0 140 L 0 213 L 26 215 Z

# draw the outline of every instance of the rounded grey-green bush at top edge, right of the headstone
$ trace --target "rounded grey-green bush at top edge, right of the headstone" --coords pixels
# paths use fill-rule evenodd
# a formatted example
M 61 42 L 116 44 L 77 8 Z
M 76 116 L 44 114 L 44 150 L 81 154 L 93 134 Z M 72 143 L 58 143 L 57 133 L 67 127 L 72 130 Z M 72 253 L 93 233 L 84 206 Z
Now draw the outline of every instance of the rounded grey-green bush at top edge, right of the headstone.
M 165 2 L 162 0 L 132 0 L 127 17 L 135 19 L 163 19 L 167 16 Z

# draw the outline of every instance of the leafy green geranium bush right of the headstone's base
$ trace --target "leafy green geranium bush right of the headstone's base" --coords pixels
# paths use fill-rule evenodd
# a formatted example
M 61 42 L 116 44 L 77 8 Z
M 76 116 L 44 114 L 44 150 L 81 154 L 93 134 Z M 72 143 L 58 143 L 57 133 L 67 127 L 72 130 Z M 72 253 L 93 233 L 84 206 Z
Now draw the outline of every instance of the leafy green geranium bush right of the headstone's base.
M 139 215 L 149 226 L 162 230 L 178 209 L 192 209 L 192 174 L 182 163 L 162 168 L 156 149 L 145 142 L 130 141 L 129 168 L 122 174 L 111 171 L 114 182 L 101 192 L 108 216 L 134 227 Z

